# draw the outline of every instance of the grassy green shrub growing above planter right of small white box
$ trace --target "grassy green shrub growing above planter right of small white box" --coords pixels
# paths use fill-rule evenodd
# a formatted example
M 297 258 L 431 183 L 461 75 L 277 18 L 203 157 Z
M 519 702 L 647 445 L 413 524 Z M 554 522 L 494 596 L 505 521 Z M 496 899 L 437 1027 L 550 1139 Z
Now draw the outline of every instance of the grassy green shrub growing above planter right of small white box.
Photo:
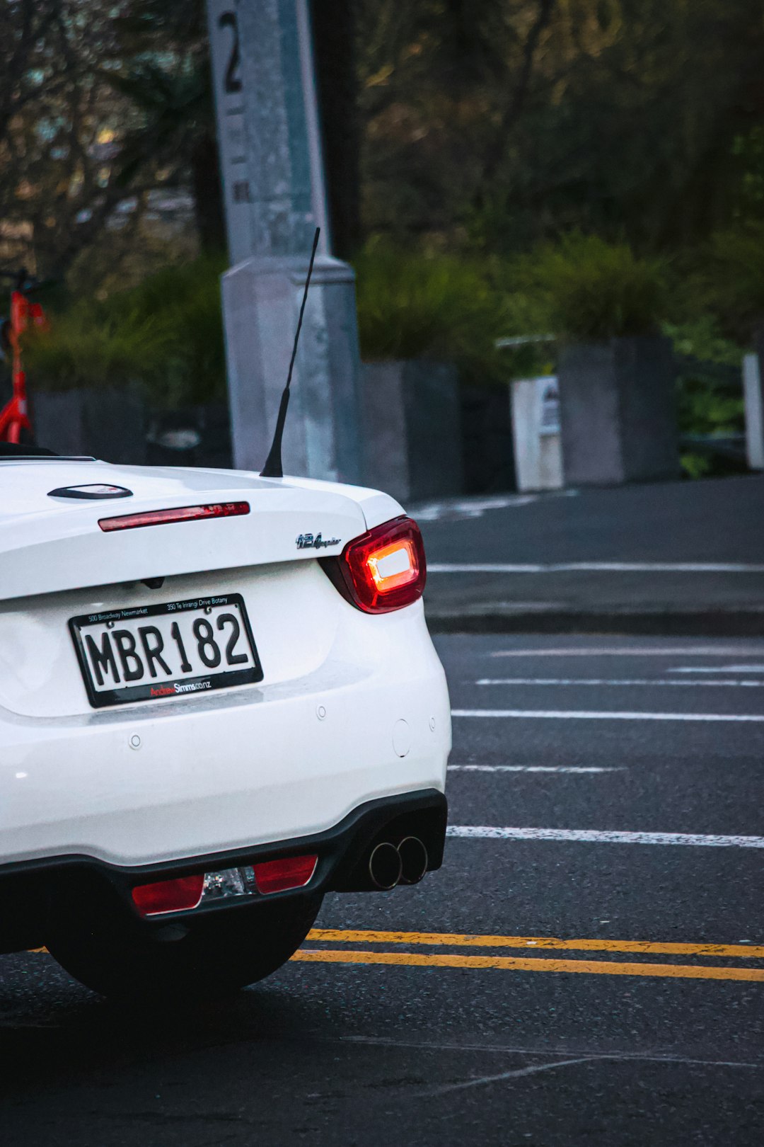
M 574 233 L 517 259 L 518 286 L 535 295 L 551 329 L 577 342 L 657 333 L 665 318 L 668 273 L 625 244 Z

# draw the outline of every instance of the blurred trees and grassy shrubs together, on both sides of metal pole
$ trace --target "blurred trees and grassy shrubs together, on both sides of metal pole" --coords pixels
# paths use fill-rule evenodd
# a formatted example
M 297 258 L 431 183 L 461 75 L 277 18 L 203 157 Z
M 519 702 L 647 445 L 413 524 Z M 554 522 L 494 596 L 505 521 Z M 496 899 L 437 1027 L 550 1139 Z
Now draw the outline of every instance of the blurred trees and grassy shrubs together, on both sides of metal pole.
M 764 323 L 761 5 L 312 7 L 365 358 L 447 358 L 496 384 L 552 369 L 557 345 L 501 337 L 663 330 L 679 356 L 739 365 Z M 63 283 L 29 341 L 32 384 L 222 397 L 203 0 L 17 0 L 0 29 L 1 262 Z M 186 195 L 183 227 L 157 223 L 157 193 Z M 682 372 L 683 430 L 737 431 L 739 398 Z

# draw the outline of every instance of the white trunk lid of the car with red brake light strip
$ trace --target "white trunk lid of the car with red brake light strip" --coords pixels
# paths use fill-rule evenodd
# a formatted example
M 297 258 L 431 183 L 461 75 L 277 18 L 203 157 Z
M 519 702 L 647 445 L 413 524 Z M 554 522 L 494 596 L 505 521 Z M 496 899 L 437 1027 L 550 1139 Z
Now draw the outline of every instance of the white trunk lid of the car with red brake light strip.
M 71 496 L 87 486 L 128 493 Z M 344 489 L 354 490 L 233 470 L 57 459 L 3 463 L 0 599 L 337 554 L 368 528 L 362 498 Z M 359 491 L 365 493 L 371 492 Z M 375 497 L 389 504 L 388 516 L 394 516 L 396 504 Z M 234 502 L 247 504 L 249 513 L 109 531 L 99 524 L 123 515 Z

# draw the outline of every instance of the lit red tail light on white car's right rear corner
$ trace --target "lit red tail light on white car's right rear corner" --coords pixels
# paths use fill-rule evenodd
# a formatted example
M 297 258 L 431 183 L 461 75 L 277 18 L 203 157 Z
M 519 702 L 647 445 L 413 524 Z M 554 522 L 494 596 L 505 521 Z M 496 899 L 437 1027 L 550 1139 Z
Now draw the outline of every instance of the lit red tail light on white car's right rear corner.
M 396 517 L 349 541 L 324 570 L 352 604 L 365 614 L 387 614 L 422 596 L 427 576 L 419 526 Z

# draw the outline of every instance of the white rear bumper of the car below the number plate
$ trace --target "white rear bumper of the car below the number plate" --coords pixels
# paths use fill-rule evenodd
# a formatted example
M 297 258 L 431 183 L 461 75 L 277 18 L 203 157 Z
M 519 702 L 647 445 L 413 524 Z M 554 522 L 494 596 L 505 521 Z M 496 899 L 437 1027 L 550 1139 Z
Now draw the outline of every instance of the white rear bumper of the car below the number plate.
M 347 640 L 293 680 L 71 717 L 0 708 L 0 866 L 156 867 L 443 791 L 448 690 L 420 603 L 373 619 L 341 604 Z

